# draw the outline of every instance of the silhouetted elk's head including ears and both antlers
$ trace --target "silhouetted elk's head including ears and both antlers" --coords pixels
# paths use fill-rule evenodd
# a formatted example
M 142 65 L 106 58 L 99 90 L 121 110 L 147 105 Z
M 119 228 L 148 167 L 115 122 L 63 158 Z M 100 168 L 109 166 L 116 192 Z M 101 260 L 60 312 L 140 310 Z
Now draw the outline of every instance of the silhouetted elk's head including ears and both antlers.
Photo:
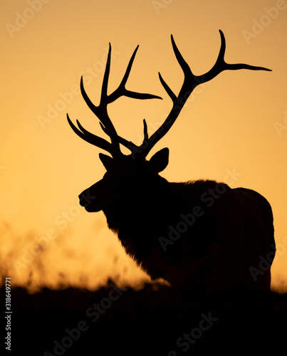
M 90 188 L 86 189 L 80 194 L 80 204 L 85 206 L 87 211 L 100 211 L 105 209 L 110 209 L 111 206 L 119 204 L 122 199 L 125 199 L 126 192 L 130 194 L 137 194 L 139 189 L 142 187 L 149 186 L 152 184 L 157 184 L 157 182 L 162 182 L 162 177 L 159 176 L 161 172 L 168 164 L 169 150 L 164 148 L 157 152 L 150 161 L 145 158 L 147 154 L 152 150 L 152 147 L 169 131 L 169 129 L 174 124 L 177 119 L 179 112 L 182 110 L 184 103 L 186 103 L 192 90 L 197 87 L 197 85 L 206 83 L 212 80 L 216 75 L 221 73 L 223 70 L 239 70 L 239 69 L 249 69 L 249 70 L 269 70 L 263 67 L 249 66 L 247 64 L 236 63 L 229 64 L 224 61 L 224 53 L 226 48 L 224 34 L 219 30 L 221 36 L 221 48 L 219 50 L 219 55 L 216 63 L 207 73 L 202 75 L 194 75 L 192 70 L 189 68 L 186 61 L 179 52 L 174 38 L 172 38 L 172 48 L 174 54 L 177 58 L 179 66 L 181 66 L 184 73 L 184 82 L 182 88 L 179 90 L 178 95 L 175 95 L 169 85 L 162 78 L 159 73 L 160 82 L 165 88 L 167 94 L 172 100 L 172 109 L 169 115 L 162 123 L 162 125 L 149 137 L 147 132 L 147 123 L 143 120 L 143 133 L 144 139 L 142 145 L 137 146 L 134 143 L 125 140 L 125 138 L 120 137 L 110 120 L 108 115 L 108 104 L 113 103 L 115 100 L 121 96 L 126 96 L 127 98 L 134 99 L 162 99 L 157 95 L 147 94 L 147 93 L 137 93 L 131 90 L 127 90 L 125 85 L 127 83 L 127 78 L 130 74 L 132 68 L 132 63 L 135 59 L 135 54 L 137 53 L 137 48 L 135 48 L 130 62 L 128 63 L 125 75 L 118 88 L 111 94 L 108 95 L 108 78 L 110 75 L 110 56 L 111 56 L 111 46 L 109 46 L 107 64 L 105 67 L 105 73 L 103 77 L 103 87 L 101 91 L 100 103 L 98 106 L 94 105 L 90 98 L 88 98 L 83 86 L 83 77 L 80 80 L 80 90 L 87 103 L 90 110 L 98 117 L 100 120 L 100 127 L 105 132 L 108 137 L 110 137 L 110 142 L 93 135 L 92 133 L 85 130 L 85 128 L 80 125 L 77 120 L 78 127 L 76 127 L 70 120 L 67 114 L 68 122 L 71 125 L 73 131 L 80 136 L 83 140 L 89 142 L 92 145 L 100 147 L 101 149 L 110 153 L 111 157 L 108 155 L 103 155 L 100 153 L 100 160 L 107 169 L 103 179 L 99 182 L 93 184 Z M 124 155 L 120 151 L 120 145 L 127 147 L 130 150 L 130 155 Z M 165 179 L 163 179 L 165 180 Z

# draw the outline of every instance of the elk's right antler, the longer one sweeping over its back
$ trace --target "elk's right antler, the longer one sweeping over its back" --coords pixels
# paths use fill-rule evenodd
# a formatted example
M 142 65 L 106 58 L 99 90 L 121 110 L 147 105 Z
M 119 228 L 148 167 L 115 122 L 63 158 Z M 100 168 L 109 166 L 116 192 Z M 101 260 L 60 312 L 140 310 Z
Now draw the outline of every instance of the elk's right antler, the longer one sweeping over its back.
M 197 85 L 206 83 L 209 80 L 212 80 L 213 78 L 216 77 L 219 73 L 221 73 L 223 70 L 239 70 L 239 69 L 249 69 L 249 70 L 268 70 L 271 71 L 268 68 L 263 68 L 263 67 L 256 67 L 256 66 L 249 66 L 248 64 L 243 64 L 243 63 L 236 63 L 236 64 L 229 64 L 224 61 L 224 54 L 225 54 L 225 48 L 226 48 L 226 43 L 225 43 L 225 38 L 224 34 L 221 30 L 219 30 L 220 37 L 221 37 L 221 48 L 219 50 L 219 55 L 216 60 L 216 63 L 212 67 L 211 70 L 209 70 L 207 73 L 202 74 L 202 75 L 194 75 L 192 73 L 192 70 L 189 68 L 188 64 L 186 61 L 184 61 L 184 58 L 182 57 L 181 53 L 179 52 L 177 45 L 174 42 L 173 36 L 172 38 L 172 48 L 174 50 L 174 54 L 177 58 L 177 61 L 179 63 L 179 66 L 181 66 L 182 71 L 184 73 L 184 82 L 182 84 L 182 88 L 179 90 L 179 94 L 175 95 L 174 92 L 172 91 L 171 88 L 169 88 L 169 85 L 165 82 L 165 80 L 162 78 L 162 75 L 159 73 L 160 76 L 160 82 L 162 83 L 162 86 L 165 88 L 167 94 L 169 97 L 172 99 L 172 110 L 169 112 L 169 115 L 165 119 L 165 122 L 162 123 L 162 125 L 155 131 L 155 133 L 151 136 L 148 137 L 147 135 L 147 124 L 144 120 L 144 140 L 142 142 L 142 145 L 137 146 L 133 144 L 132 142 L 127 142 L 125 139 L 122 139 L 122 137 L 119 137 L 118 135 L 115 134 L 115 132 L 106 132 L 110 137 L 113 137 L 113 139 L 118 140 L 122 145 L 125 147 L 129 148 L 132 151 L 132 155 L 135 155 L 138 153 L 138 156 L 141 158 L 147 157 L 147 154 L 152 150 L 152 147 L 155 146 L 155 144 L 160 141 L 160 139 L 165 136 L 165 134 L 169 131 L 170 127 L 174 124 L 174 121 L 177 120 L 177 117 L 179 115 L 179 112 L 182 110 L 184 104 L 186 103 L 187 99 L 189 98 L 189 95 L 192 93 L 192 90 L 197 87 Z M 139 157 L 139 158 L 140 158 Z

